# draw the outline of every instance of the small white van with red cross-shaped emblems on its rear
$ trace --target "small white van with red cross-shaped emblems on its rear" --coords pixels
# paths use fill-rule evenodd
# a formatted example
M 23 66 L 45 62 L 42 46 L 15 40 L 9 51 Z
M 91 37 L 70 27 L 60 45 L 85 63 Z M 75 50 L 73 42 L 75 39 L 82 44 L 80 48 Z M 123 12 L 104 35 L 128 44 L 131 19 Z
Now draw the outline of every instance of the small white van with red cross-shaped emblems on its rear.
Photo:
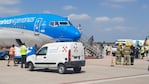
M 81 42 L 57 42 L 43 45 L 36 55 L 27 57 L 28 70 L 34 68 L 56 68 L 65 73 L 67 68 L 80 72 L 85 66 L 84 46 Z

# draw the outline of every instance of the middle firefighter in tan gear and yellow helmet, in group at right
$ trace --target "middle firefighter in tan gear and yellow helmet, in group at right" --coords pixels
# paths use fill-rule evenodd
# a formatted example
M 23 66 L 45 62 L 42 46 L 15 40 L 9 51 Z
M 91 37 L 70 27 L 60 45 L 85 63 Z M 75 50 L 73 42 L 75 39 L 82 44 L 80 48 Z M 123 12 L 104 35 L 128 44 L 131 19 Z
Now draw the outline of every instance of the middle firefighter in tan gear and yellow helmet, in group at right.
M 130 43 L 126 43 L 123 49 L 124 65 L 130 65 L 130 54 L 131 54 L 130 46 L 131 46 Z

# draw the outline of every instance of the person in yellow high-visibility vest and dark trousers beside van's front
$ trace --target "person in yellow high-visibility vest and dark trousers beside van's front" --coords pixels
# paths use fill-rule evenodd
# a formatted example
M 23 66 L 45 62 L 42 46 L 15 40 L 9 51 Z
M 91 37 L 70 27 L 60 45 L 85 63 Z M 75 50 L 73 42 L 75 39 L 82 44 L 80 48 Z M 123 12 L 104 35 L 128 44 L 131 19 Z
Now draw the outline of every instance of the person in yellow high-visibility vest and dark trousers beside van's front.
M 27 48 L 25 46 L 25 43 L 22 43 L 20 47 L 20 54 L 21 54 L 21 68 L 23 68 L 23 64 L 26 67 L 26 56 L 27 56 Z

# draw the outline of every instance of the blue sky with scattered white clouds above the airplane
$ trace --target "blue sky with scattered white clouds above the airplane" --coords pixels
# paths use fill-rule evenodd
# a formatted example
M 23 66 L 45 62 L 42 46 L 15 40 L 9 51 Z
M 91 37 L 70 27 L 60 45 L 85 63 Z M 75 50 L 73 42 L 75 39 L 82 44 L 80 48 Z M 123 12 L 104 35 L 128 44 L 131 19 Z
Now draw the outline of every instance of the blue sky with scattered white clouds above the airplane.
M 149 36 L 149 0 L 0 0 L 0 17 L 28 13 L 69 17 L 95 42 Z

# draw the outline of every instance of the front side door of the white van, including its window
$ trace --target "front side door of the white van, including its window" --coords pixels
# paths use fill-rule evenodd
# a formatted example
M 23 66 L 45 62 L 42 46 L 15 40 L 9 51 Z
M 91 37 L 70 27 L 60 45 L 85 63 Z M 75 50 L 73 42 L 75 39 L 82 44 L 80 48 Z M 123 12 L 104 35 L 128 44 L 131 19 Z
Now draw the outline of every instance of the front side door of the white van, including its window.
M 48 47 L 42 47 L 37 53 L 35 57 L 35 65 L 37 67 L 48 67 L 47 63 L 47 50 Z

